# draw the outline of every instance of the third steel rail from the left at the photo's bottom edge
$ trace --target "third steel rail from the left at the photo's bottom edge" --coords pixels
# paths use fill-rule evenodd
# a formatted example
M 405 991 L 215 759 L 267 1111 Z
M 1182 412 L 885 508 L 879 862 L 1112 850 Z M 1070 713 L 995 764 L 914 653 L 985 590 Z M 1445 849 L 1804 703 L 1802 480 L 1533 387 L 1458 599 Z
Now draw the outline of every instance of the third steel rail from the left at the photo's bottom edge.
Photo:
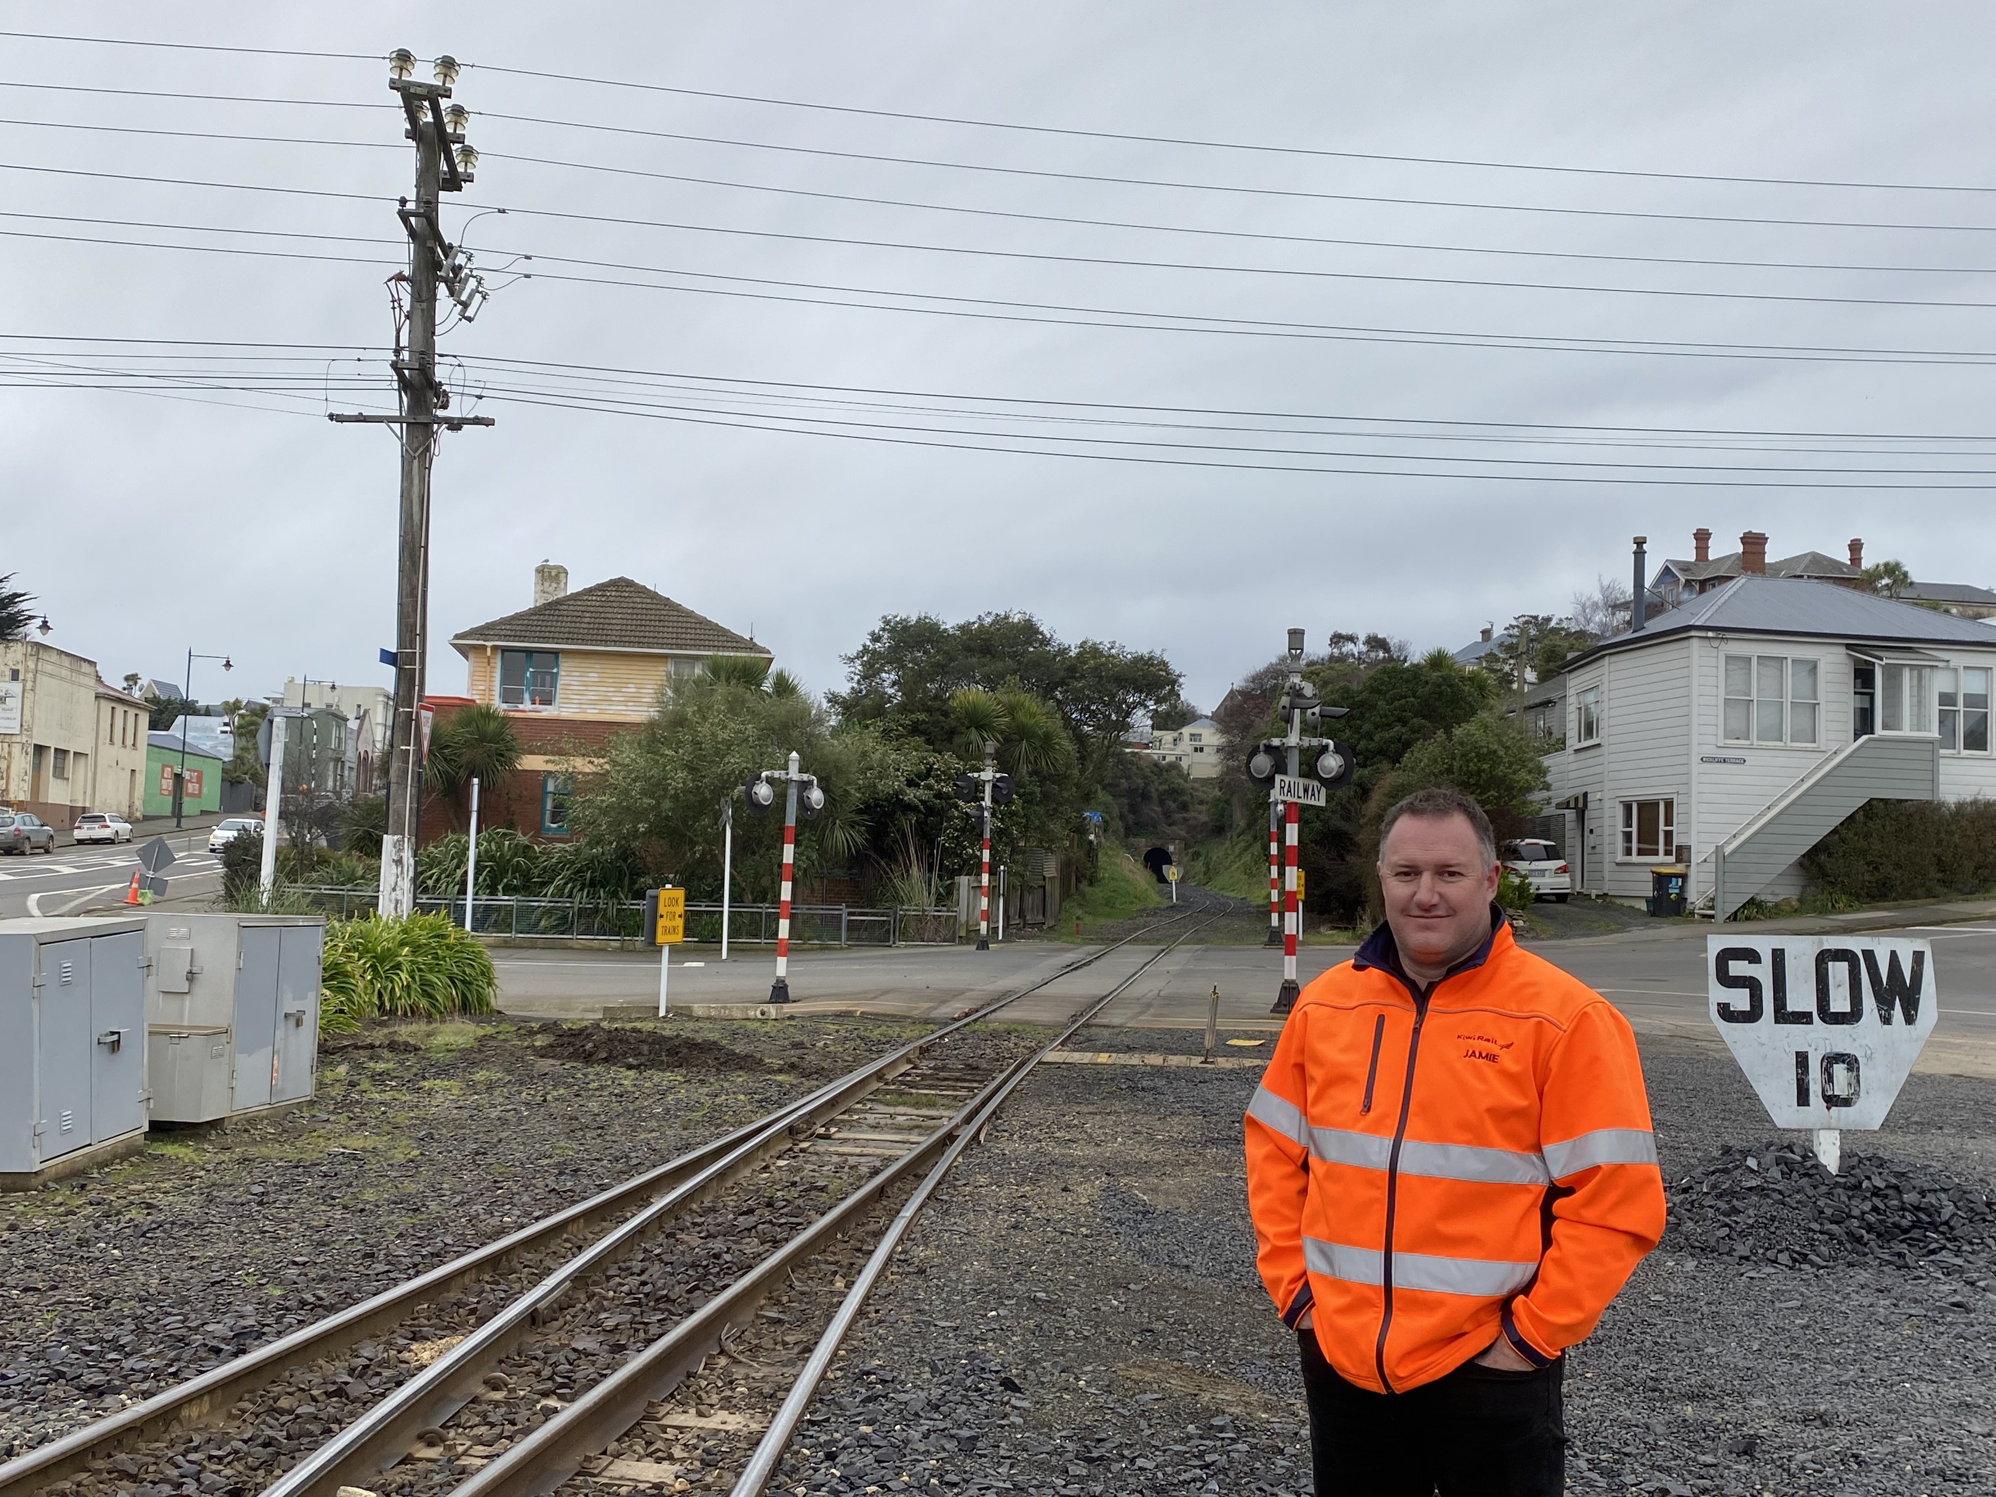
M 1196 912 L 1200 914 L 1200 912 Z M 1220 916 L 1208 916 L 1192 930 L 1212 924 Z M 1146 958 L 1130 976 L 1122 978 L 1102 998 L 1088 1004 L 1074 1020 L 1034 1054 L 1010 1066 L 996 1080 L 986 1084 L 970 1102 L 960 1108 L 950 1122 L 936 1128 L 926 1140 L 902 1154 L 894 1164 L 866 1180 L 838 1206 L 820 1216 L 788 1244 L 772 1251 L 727 1289 L 709 1299 L 701 1309 L 687 1315 L 679 1325 L 631 1357 L 623 1367 L 591 1387 L 587 1393 L 551 1415 L 543 1425 L 515 1441 L 505 1453 L 495 1455 L 487 1465 L 473 1471 L 451 1489 L 451 1497 L 547 1497 L 563 1481 L 581 1469 L 583 1461 L 603 1451 L 611 1441 L 645 1417 L 645 1409 L 671 1393 L 695 1373 L 701 1363 L 721 1349 L 721 1337 L 754 1319 L 756 1307 L 770 1287 L 780 1283 L 792 1267 L 808 1257 L 818 1246 L 842 1232 L 872 1206 L 888 1188 L 904 1176 L 916 1172 L 938 1152 L 946 1152 L 954 1162 L 962 1148 L 950 1150 L 952 1138 L 968 1144 L 990 1124 L 998 1106 L 1012 1094 L 1026 1074 L 1040 1064 L 1048 1050 L 1088 1024 L 1108 1004 L 1120 998 L 1144 972 L 1162 962 L 1192 930 L 1162 946 Z

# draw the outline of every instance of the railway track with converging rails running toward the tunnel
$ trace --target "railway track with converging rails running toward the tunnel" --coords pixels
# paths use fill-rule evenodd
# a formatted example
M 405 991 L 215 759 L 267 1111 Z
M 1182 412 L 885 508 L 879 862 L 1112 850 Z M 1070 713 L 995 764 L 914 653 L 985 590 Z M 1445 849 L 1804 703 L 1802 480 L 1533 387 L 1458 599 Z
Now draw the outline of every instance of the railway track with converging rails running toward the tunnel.
M 1066 1040 L 1198 928 L 1188 922 L 1212 918 L 1184 910 L 1132 932 L 754 1124 L 40 1445 L 0 1465 L 0 1497 L 479 1497 L 547 1493 L 577 1471 L 665 1491 L 711 1479 L 719 1461 L 741 1463 L 737 1447 L 784 1429 L 776 1407 L 701 1401 L 715 1373 L 756 1369 L 725 1387 L 756 1381 L 776 1399 L 814 1387 L 814 1359 L 828 1361 L 920 1202 L 1052 1048 L 1004 1062 L 950 1042 L 1178 926 Z M 900 1208 L 884 1230 L 882 1206 Z M 870 1232 L 874 1257 L 858 1246 Z M 826 1317 L 830 1341 L 806 1355 L 792 1323 Z M 792 1363 L 792 1381 L 772 1381 Z M 691 1401 L 665 1407 L 689 1379 Z

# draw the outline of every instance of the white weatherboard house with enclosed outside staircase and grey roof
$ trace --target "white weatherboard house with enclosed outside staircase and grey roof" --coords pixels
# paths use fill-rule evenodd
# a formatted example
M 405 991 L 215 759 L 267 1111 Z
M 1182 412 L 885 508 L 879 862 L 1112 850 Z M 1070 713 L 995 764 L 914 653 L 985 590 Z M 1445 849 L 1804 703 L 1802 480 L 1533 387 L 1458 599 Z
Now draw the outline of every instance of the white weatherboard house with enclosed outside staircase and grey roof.
M 1796 860 L 1872 798 L 1996 794 L 1996 631 L 1832 583 L 1739 577 L 1577 657 L 1547 802 L 1575 888 L 1731 916 L 1804 888 Z

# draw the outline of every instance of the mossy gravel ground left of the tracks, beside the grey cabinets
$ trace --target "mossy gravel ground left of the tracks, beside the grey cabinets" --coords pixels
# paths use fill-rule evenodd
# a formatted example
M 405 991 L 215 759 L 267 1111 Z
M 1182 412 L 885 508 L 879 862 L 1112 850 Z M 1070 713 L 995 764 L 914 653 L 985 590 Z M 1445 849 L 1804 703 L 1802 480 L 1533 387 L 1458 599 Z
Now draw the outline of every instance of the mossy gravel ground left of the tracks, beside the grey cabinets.
M 928 1028 L 453 1024 L 333 1040 L 301 1110 L 156 1134 L 140 1158 L 0 1196 L 0 1455 L 593 1196 Z M 437 1335 L 475 1323 L 477 1303 L 439 1315 Z

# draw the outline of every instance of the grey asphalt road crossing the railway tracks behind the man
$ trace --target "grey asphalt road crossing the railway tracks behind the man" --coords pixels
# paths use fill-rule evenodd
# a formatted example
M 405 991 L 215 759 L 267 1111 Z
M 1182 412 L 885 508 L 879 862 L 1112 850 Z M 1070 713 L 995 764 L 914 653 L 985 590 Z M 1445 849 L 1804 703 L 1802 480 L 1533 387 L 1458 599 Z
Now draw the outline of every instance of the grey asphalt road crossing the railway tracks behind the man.
M 1573 972 L 1621 1008 L 1641 1034 L 1719 1044 L 1707 1018 L 1705 936 L 1709 926 L 1635 932 L 1589 940 L 1531 942 L 1529 950 Z M 1880 932 L 1870 932 L 1880 934 Z M 1922 1070 L 1996 1076 L 1996 922 L 1924 926 L 1904 932 L 1934 942 L 1940 1022 Z M 792 1012 L 954 1016 L 1088 954 L 1086 946 L 1004 944 L 902 946 L 894 950 L 802 952 L 790 958 Z M 1020 1022 L 1052 1022 L 1088 994 L 1106 992 L 1156 954 L 1126 946 L 1096 966 L 1022 1000 Z M 1303 982 L 1351 954 L 1349 946 L 1305 946 Z M 597 1018 L 607 1004 L 657 1004 L 659 958 L 649 952 L 495 952 L 499 1006 L 533 1018 Z M 673 962 L 675 1004 L 764 1002 L 774 958 L 735 948 L 721 964 L 711 948 L 683 948 Z M 1176 946 L 1146 970 L 1102 1016 L 1104 1024 L 1200 1028 L 1214 988 L 1228 1030 L 1277 1030 L 1269 1004 L 1281 982 L 1281 954 L 1257 946 Z

